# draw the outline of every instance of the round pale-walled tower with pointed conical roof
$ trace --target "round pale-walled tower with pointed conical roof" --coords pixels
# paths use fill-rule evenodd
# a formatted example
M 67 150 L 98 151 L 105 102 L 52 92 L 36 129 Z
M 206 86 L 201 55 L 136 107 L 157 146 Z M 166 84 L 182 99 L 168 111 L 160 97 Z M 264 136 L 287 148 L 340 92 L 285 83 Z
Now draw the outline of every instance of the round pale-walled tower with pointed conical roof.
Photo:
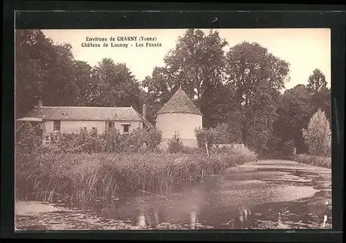
M 167 146 L 168 140 L 177 133 L 184 146 L 196 147 L 194 128 L 202 127 L 202 114 L 180 87 L 156 113 L 156 127 L 162 131 L 161 146 Z

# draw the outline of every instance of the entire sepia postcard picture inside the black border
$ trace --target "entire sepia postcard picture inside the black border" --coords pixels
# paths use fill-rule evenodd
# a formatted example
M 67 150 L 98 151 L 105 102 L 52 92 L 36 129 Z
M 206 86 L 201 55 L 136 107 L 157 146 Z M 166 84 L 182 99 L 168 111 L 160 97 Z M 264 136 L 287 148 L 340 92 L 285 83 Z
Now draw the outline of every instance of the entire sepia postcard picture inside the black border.
M 16 29 L 14 146 L 15 231 L 331 229 L 331 31 Z

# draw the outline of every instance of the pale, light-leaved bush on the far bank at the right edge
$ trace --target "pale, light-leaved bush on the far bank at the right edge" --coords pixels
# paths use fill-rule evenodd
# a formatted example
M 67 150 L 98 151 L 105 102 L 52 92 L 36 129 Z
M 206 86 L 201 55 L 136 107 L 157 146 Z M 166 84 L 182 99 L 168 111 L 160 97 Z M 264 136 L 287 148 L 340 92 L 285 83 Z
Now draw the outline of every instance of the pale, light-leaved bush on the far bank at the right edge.
M 307 129 L 302 129 L 305 144 L 310 155 L 330 156 L 331 139 L 330 126 L 325 112 L 318 111 L 311 117 Z

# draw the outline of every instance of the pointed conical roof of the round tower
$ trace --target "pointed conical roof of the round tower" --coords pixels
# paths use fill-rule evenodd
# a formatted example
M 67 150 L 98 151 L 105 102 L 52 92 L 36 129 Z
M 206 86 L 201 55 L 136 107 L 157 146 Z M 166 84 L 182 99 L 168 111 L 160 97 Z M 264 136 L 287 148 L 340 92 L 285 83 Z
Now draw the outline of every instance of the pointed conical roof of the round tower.
M 157 114 L 162 113 L 191 113 L 202 115 L 199 108 L 194 105 L 190 97 L 186 95 L 181 87 L 179 90 L 176 90 L 176 93 L 172 95 L 170 100 L 168 100 L 167 103 L 157 112 Z

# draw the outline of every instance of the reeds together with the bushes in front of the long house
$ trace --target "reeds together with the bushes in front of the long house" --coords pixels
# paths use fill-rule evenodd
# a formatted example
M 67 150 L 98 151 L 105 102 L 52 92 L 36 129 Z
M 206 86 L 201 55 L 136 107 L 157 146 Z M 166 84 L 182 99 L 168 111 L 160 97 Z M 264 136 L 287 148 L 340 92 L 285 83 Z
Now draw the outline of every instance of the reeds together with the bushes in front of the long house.
M 212 148 L 206 153 L 202 148 L 186 148 L 179 139 L 176 149 L 159 150 L 155 145 L 161 141 L 160 135 L 155 130 L 135 130 L 127 137 L 111 133 L 104 139 L 104 135 L 84 130 L 45 147 L 35 128 L 26 124 L 16 147 L 16 197 L 86 204 L 129 191 L 165 194 L 179 184 L 201 182 L 256 159 L 246 147 Z M 100 153 L 96 145 L 102 142 L 105 146 Z

